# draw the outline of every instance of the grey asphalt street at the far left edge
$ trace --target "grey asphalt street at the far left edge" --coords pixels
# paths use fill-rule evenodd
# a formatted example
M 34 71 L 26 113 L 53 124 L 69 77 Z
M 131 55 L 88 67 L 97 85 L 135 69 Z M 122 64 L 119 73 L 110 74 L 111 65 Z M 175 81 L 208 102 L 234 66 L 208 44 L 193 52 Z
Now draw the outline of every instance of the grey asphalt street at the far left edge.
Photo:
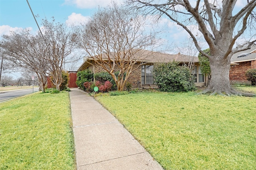
M 34 88 L 34 92 L 38 92 L 38 91 L 39 91 L 38 88 Z M 0 102 L 11 99 L 11 98 L 16 98 L 19 96 L 24 96 L 26 94 L 31 94 L 32 92 L 33 92 L 32 88 L 0 92 Z

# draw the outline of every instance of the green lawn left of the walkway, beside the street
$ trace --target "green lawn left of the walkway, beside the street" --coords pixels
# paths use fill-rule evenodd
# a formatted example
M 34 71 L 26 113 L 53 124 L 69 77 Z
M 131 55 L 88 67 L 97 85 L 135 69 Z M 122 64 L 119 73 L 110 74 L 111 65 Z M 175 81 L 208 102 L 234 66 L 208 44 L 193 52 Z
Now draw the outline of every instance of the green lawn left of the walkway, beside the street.
M 0 170 L 74 170 L 68 92 L 0 104 Z

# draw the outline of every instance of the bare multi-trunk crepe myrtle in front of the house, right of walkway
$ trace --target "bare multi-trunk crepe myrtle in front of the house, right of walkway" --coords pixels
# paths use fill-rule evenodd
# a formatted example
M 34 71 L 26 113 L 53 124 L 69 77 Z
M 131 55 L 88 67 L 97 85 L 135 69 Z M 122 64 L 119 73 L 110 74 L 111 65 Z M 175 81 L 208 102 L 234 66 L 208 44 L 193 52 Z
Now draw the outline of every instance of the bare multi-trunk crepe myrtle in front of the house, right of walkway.
M 157 44 L 156 32 L 146 29 L 145 22 L 134 10 L 112 3 L 98 9 L 78 31 L 79 47 L 112 76 L 118 91 L 124 90 L 130 73 L 145 64 L 137 63 L 152 55 Z

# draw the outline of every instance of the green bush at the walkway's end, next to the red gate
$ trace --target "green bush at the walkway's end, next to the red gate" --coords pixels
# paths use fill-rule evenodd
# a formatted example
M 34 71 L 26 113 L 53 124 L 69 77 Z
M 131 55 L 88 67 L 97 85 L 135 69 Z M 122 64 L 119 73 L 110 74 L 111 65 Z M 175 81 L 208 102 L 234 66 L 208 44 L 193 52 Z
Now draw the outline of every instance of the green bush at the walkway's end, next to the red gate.
M 89 69 L 77 72 L 76 76 L 76 84 L 82 90 L 86 90 L 84 87 L 84 82 L 91 82 L 93 80 L 93 73 Z

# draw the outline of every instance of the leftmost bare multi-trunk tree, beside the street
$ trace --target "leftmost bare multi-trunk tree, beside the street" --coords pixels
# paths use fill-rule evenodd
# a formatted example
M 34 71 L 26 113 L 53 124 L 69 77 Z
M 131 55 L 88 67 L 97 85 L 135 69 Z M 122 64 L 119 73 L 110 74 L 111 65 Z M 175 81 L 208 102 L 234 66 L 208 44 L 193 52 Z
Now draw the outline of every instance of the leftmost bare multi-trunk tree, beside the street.
M 36 73 L 40 90 L 44 92 L 49 62 L 45 59 L 48 52 L 41 35 L 32 35 L 28 29 L 12 32 L 3 36 L 2 47 L 12 67 Z

